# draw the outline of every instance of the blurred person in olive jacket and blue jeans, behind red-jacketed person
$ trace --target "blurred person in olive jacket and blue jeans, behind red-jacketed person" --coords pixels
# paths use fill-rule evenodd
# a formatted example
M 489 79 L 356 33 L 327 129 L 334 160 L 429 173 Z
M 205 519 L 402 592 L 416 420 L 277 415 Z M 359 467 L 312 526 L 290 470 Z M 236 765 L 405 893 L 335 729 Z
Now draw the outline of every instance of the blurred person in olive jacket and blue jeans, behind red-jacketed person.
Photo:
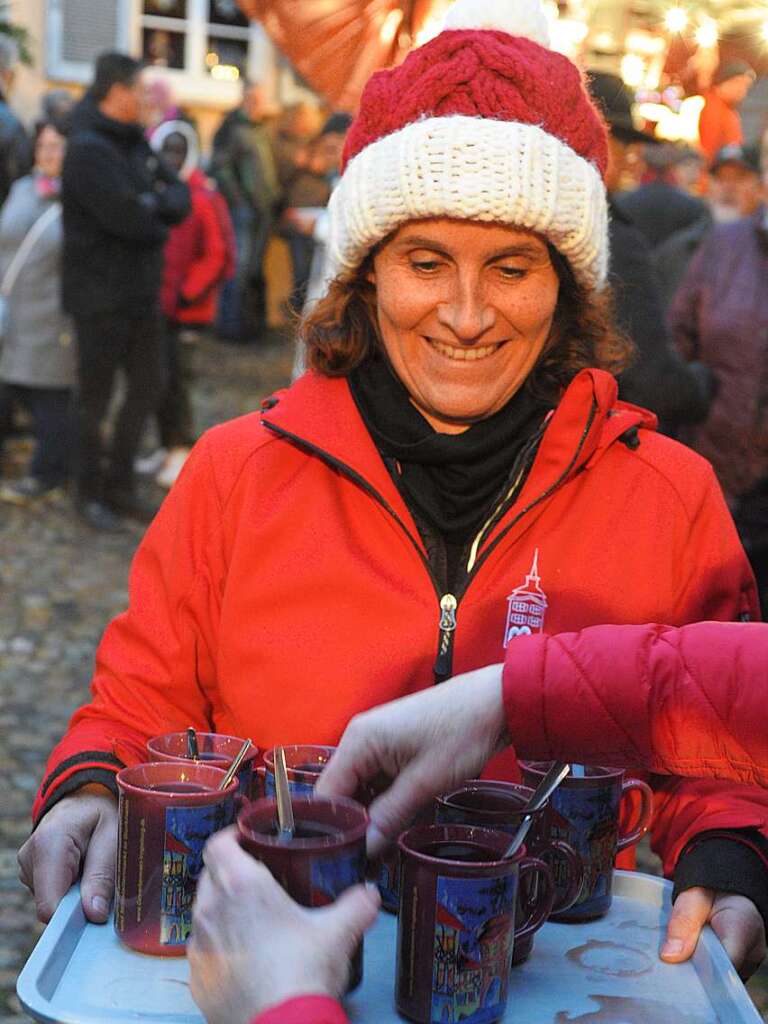
M 216 333 L 249 343 L 266 330 L 264 253 L 274 222 L 280 183 L 266 95 L 246 82 L 243 102 L 222 121 L 213 139 L 211 174 L 229 208 L 238 244 L 238 269 L 219 302 Z

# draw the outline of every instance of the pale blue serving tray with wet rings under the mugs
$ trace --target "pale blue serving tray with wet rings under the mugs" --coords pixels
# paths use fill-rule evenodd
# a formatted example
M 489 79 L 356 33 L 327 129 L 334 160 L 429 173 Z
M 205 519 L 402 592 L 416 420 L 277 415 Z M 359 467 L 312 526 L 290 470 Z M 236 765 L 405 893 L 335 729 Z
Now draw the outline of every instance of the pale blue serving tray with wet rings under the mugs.
M 606 918 L 548 924 L 530 959 L 512 972 L 505 1021 L 517 1024 L 761 1024 L 755 1006 L 708 928 L 693 959 L 658 959 L 672 887 L 616 871 Z M 382 913 L 366 937 L 365 980 L 347 1004 L 355 1024 L 395 1024 L 397 922 Z M 254 938 L 253 941 L 258 941 Z M 91 925 L 77 887 L 65 897 L 16 983 L 37 1020 L 57 1024 L 201 1024 L 183 957 L 143 956 L 112 924 Z

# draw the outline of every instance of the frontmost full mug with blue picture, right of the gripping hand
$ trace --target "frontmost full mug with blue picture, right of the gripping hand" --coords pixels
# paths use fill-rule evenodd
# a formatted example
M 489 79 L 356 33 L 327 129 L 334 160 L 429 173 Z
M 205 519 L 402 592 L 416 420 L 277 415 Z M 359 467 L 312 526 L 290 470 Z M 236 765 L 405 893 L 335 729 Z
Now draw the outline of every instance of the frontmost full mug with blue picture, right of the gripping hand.
M 397 1012 L 419 1024 L 504 1016 L 517 891 L 536 878 L 523 927 L 536 930 L 554 899 L 549 867 L 524 848 L 505 858 L 506 833 L 417 825 L 402 833 L 397 921 Z

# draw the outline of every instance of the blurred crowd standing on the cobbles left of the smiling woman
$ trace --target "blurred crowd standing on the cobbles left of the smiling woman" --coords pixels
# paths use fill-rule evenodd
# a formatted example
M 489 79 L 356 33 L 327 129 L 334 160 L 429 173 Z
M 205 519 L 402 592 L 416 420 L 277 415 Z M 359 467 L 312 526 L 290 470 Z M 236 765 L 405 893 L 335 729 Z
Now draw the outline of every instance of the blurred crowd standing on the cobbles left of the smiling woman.
M 0 499 L 34 505 L 69 487 L 85 522 L 117 530 L 157 512 L 137 472 L 170 487 L 197 439 L 183 339 L 210 330 L 257 350 L 264 337 L 271 234 L 291 254 L 290 310 L 316 295 L 314 229 L 349 118 L 309 103 L 278 117 L 247 83 L 204 160 L 167 85 L 105 53 L 81 99 L 44 97 L 28 139 L 8 102 L 14 60 L 0 39 L 0 445 L 23 411 L 35 451 Z

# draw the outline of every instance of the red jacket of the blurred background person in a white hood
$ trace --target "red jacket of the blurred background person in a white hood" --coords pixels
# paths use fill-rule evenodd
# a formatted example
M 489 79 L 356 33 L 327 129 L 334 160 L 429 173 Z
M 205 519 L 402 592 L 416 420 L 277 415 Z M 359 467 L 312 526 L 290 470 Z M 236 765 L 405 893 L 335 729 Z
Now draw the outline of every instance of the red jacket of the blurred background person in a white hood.
M 170 319 L 211 324 L 225 278 L 226 246 L 216 198 L 203 172 L 194 170 L 187 185 L 191 212 L 168 236 L 160 301 Z

